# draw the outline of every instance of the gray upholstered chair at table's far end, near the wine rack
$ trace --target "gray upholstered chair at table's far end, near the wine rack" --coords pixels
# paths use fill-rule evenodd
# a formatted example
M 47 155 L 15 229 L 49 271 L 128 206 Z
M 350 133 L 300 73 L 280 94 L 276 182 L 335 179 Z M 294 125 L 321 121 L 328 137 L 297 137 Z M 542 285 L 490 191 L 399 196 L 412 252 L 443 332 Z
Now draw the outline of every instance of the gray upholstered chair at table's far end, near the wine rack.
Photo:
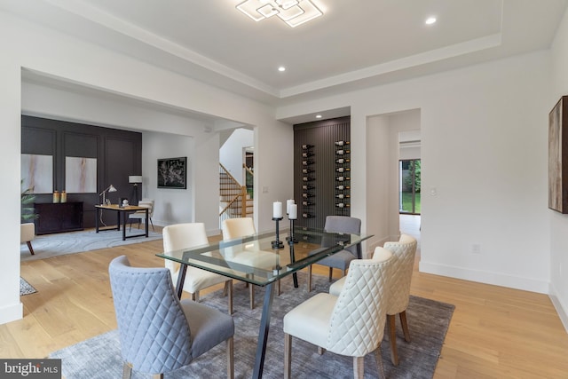
M 361 232 L 361 220 L 348 216 L 327 216 L 324 231 L 328 233 L 356 233 Z M 333 274 L 334 268 L 343 272 L 343 276 L 347 272 L 347 268 L 353 259 L 361 257 L 361 245 L 358 243 L 350 248 L 343 249 L 333 256 L 325 257 L 317 263 L 317 265 L 327 265 L 329 267 L 329 281 Z M 319 250 L 310 253 L 316 254 Z M 312 265 L 308 266 L 308 292 L 312 291 Z

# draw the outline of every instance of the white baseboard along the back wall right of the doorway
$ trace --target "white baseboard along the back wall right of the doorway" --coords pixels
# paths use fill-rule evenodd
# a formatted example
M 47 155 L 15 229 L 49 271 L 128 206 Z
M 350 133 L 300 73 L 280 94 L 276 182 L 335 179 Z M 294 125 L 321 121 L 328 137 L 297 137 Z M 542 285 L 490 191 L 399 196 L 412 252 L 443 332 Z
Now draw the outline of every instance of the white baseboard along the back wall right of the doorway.
M 463 267 L 454 267 L 451 265 L 438 265 L 429 262 L 420 262 L 420 272 L 433 273 L 436 275 L 448 276 L 450 278 L 477 281 L 485 284 L 493 284 L 507 288 L 522 289 L 525 291 L 537 292 L 539 294 L 549 294 L 550 285 L 545 280 L 535 280 L 530 278 L 522 278 L 511 276 L 500 272 L 485 272 L 469 270 Z

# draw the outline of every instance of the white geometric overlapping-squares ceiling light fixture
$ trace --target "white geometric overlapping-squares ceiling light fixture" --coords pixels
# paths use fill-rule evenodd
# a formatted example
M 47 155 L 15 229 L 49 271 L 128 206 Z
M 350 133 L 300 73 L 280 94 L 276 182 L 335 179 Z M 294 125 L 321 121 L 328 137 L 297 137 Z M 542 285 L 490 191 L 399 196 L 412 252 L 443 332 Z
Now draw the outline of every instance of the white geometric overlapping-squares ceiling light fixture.
M 277 15 L 292 28 L 323 14 L 312 0 L 246 0 L 236 8 L 255 21 Z

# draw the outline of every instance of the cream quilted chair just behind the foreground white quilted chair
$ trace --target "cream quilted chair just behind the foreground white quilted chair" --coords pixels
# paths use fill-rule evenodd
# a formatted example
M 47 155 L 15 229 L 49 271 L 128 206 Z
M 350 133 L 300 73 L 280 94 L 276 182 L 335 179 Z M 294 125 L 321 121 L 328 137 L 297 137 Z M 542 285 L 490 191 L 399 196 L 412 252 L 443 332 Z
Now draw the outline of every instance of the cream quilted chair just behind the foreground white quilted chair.
M 410 299 L 410 282 L 414 267 L 414 256 L 417 241 L 414 237 L 402 234 L 398 241 L 385 242 L 383 248 L 377 247 L 373 259 L 381 259 L 383 250 L 388 250 L 393 255 L 390 268 L 389 304 L 387 305 L 387 323 L 389 325 L 390 360 L 393 365 L 398 365 L 396 315 L 400 318 L 402 331 L 406 342 L 410 342 L 410 332 L 406 321 L 406 308 Z M 343 288 L 345 280 L 342 278 L 335 281 L 329 287 L 329 293 L 338 295 Z

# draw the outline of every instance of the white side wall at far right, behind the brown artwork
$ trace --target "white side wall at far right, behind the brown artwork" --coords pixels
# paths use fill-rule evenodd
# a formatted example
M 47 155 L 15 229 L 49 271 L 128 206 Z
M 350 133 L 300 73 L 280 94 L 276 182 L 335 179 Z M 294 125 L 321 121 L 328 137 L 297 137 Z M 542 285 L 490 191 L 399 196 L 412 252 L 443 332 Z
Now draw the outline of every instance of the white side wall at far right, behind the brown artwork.
M 561 96 L 568 95 L 568 12 L 552 44 L 552 96 L 548 110 Z M 568 330 L 568 215 L 548 211 L 550 224 L 550 294 Z

